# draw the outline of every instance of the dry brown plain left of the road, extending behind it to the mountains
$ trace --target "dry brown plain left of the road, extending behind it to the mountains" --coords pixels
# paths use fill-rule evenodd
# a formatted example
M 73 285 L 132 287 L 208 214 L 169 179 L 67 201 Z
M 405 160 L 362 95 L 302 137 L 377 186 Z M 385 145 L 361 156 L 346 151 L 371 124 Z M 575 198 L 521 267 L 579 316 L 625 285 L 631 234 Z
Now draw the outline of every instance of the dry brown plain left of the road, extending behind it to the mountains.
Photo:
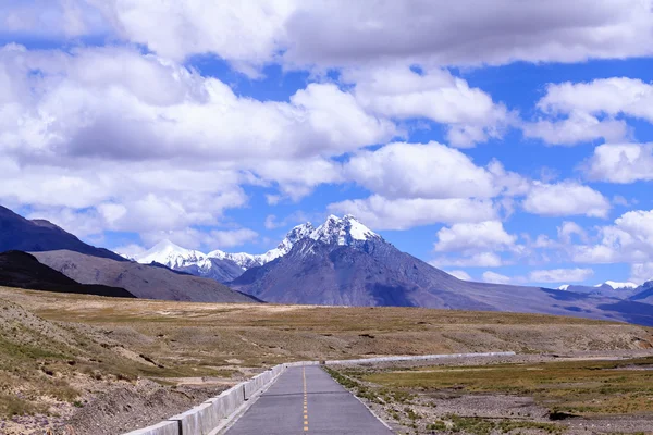
M 0 332 L 0 433 L 9 434 L 64 433 L 65 425 L 77 435 L 120 433 L 284 361 L 514 350 L 534 363 L 552 353 L 653 349 L 651 328 L 572 318 L 170 302 L 5 287 Z

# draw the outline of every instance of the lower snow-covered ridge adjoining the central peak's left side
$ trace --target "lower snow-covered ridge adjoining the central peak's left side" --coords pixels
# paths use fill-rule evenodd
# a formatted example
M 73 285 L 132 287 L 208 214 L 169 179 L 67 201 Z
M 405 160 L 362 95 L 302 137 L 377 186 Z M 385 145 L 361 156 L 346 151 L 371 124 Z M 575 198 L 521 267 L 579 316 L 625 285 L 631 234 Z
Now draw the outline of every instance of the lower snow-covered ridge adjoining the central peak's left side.
M 204 253 L 182 248 L 170 240 L 162 240 L 141 254 L 131 257 L 141 264 L 159 263 L 172 270 L 209 277 L 219 282 L 229 282 L 242 275 L 247 269 L 263 265 L 286 254 L 293 244 L 306 237 L 313 229 L 310 223 L 296 226 L 276 246 L 261 254 L 246 252 L 230 253 L 214 250 Z

